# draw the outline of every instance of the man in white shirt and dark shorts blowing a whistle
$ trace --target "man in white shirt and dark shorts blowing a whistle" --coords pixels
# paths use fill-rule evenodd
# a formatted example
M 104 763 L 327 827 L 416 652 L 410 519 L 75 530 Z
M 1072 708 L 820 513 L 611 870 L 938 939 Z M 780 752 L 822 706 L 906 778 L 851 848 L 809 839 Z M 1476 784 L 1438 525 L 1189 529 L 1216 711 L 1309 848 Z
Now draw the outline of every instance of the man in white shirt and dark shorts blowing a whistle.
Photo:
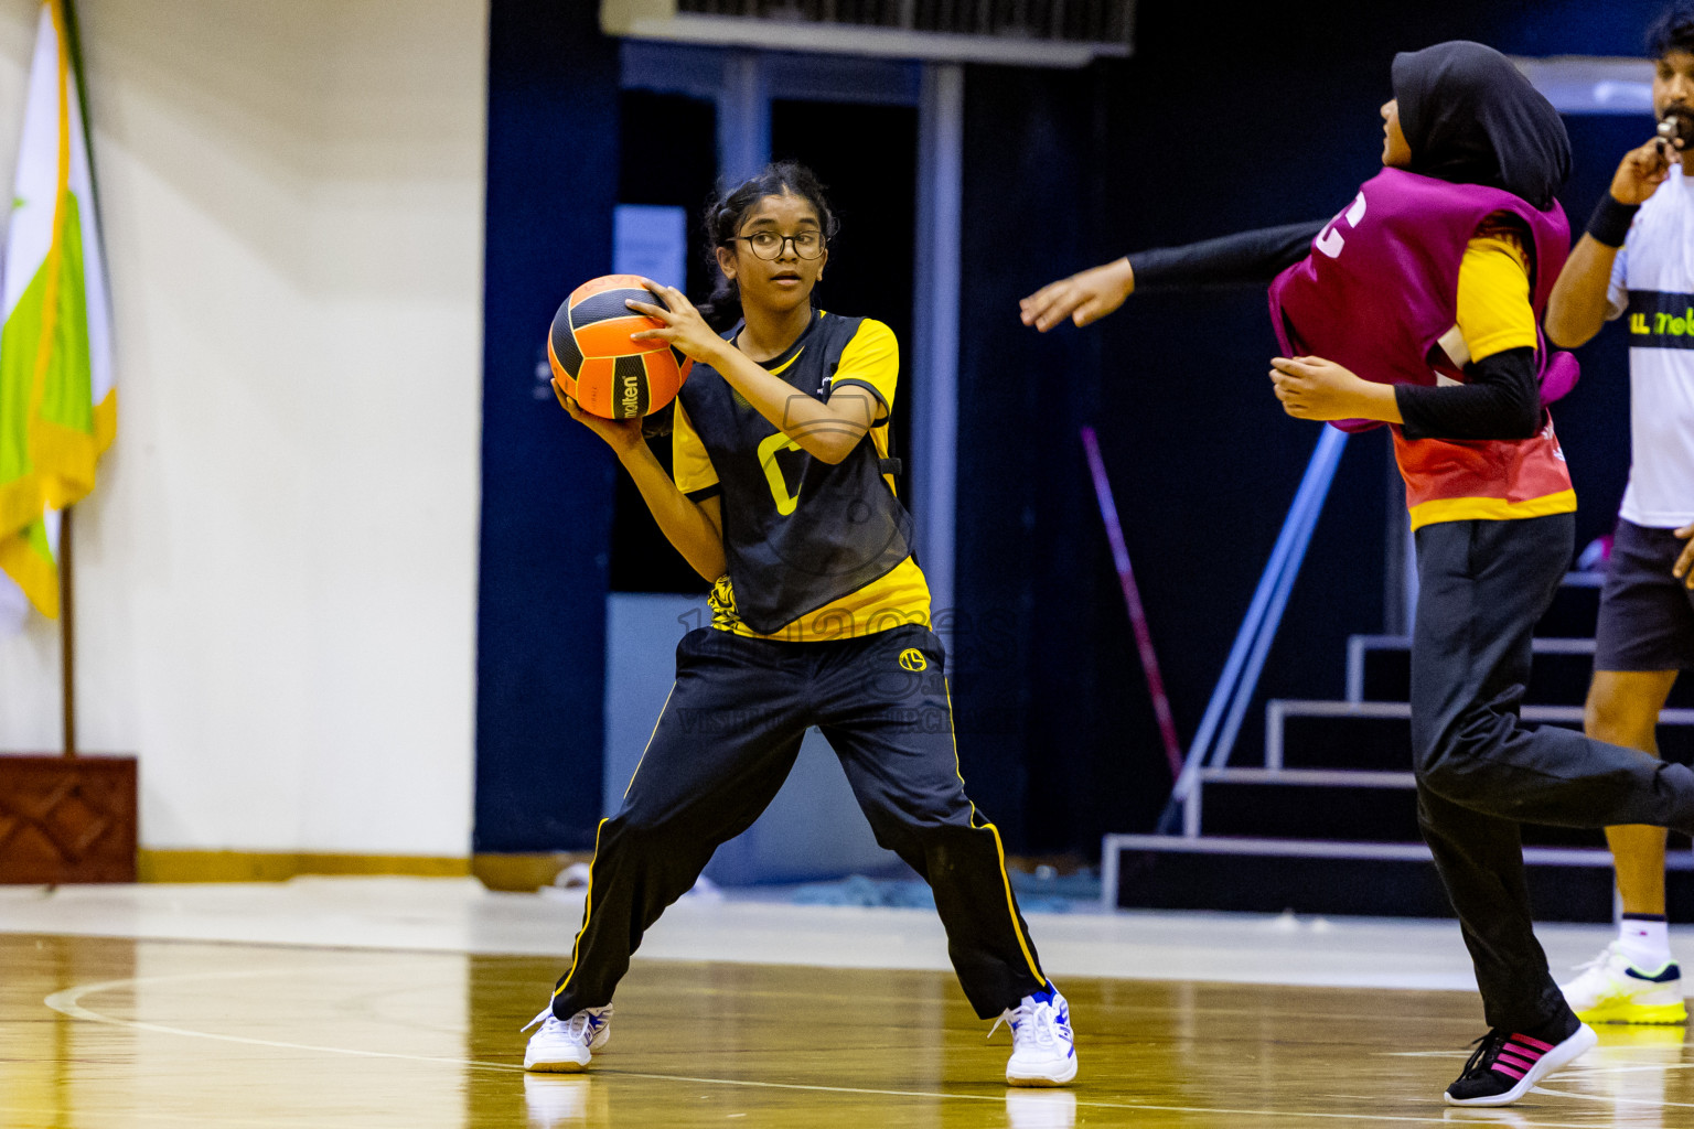
M 1648 29 L 1653 112 L 1694 120 L 1694 3 Z M 1575 347 L 1601 323 L 1630 333 L 1630 486 L 1601 589 L 1584 730 L 1658 755 L 1658 711 L 1694 667 L 1694 154 L 1653 139 L 1625 154 L 1547 305 L 1547 335 Z M 1687 1022 L 1665 926 L 1665 831 L 1606 828 L 1618 939 L 1560 985 L 1587 1022 Z

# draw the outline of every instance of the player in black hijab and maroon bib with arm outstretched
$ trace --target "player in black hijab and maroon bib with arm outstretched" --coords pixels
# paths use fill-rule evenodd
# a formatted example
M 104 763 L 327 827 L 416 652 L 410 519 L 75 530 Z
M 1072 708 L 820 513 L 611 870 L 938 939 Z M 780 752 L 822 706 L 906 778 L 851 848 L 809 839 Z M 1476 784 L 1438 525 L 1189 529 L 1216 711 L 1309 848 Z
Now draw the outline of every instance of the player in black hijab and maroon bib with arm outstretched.
M 1545 410 L 1574 362 L 1536 325 L 1570 245 L 1553 200 L 1564 124 L 1474 42 L 1399 54 L 1392 83 L 1384 169 L 1333 220 L 1118 259 L 1025 298 L 1023 322 L 1088 325 L 1138 288 L 1274 278 L 1284 410 L 1391 427 L 1418 547 L 1418 819 L 1489 1024 L 1445 1099 L 1508 1105 L 1596 1041 L 1535 939 L 1518 824 L 1694 829 L 1694 772 L 1518 719 L 1530 635 L 1574 537 Z

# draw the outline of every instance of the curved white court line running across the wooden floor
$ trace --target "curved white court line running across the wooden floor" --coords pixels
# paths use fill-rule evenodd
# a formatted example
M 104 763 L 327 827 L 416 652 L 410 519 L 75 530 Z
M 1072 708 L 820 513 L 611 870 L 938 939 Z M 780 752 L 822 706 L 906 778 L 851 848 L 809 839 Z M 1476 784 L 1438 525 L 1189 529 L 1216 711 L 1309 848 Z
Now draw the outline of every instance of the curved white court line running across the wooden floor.
M 168 1027 L 164 1024 L 141 1022 L 136 1019 L 117 1019 L 115 1016 L 105 1016 L 81 1004 L 81 997 L 93 992 L 112 992 L 120 989 L 130 989 L 137 983 L 158 983 L 163 980 L 213 980 L 213 978 L 237 978 L 244 975 L 266 977 L 266 975 L 293 975 L 296 970 L 261 970 L 261 972 L 220 972 L 220 973 L 180 973 L 171 977 L 134 977 L 129 980 L 105 980 L 102 983 L 85 983 L 73 989 L 64 989 L 46 997 L 42 1002 L 53 1011 L 69 1016 L 71 1019 L 83 1019 L 88 1022 L 108 1024 L 113 1027 L 130 1027 L 136 1031 L 154 1031 L 159 1034 L 176 1034 L 191 1039 L 215 1039 L 222 1043 L 242 1043 L 247 1046 L 269 1046 L 286 1051 L 313 1051 L 318 1055 L 349 1055 L 354 1058 L 395 1058 L 415 1063 L 439 1063 L 449 1066 L 471 1066 L 476 1070 L 501 1070 L 510 1073 L 525 1073 L 522 1066 L 513 1063 L 484 1063 L 471 1058 L 439 1058 L 430 1055 L 400 1055 L 395 1051 L 359 1051 L 344 1046 L 315 1046 L 308 1043 L 285 1043 L 278 1039 L 254 1039 L 251 1036 L 241 1034 L 215 1034 L 212 1031 L 190 1031 L 186 1027 Z M 717 1085 L 717 1087 L 747 1087 L 759 1090 L 798 1090 L 808 1093 L 862 1093 L 869 1097 L 913 1097 L 913 1099 L 942 1099 L 955 1102 L 1005 1102 L 1003 1093 L 950 1093 L 945 1090 L 871 1090 L 864 1087 L 825 1087 L 825 1085 L 805 1085 L 798 1082 L 750 1082 L 742 1078 L 695 1078 L 688 1075 L 652 1075 L 639 1073 L 634 1070 L 596 1070 L 595 1075 L 613 1077 L 613 1078 L 644 1078 L 650 1082 L 686 1082 L 691 1085 Z M 590 1075 L 593 1077 L 593 1075 Z M 1562 1095 L 1565 1097 L 1565 1095 Z M 1586 1093 L 1572 1093 L 1569 1097 L 1591 1097 Z M 1594 1099 L 1606 1100 L 1606 1099 Z M 1626 1100 L 1626 1099 L 1619 1099 Z M 1162 1114 L 1232 1114 L 1242 1117 L 1308 1117 L 1323 1121 L 1370 1121 L 1370 1122 L 1398 1122 L 1409 1126 L 1450 1126 L 1452 1121 L 1447 1117 L 1404 1117 L 1392 1114 L 1331 1114 L 1318 1110 L 1277 1110 L 1277 1109 L 1232 1109 L 1220 1105 L 1154 1105 L 1143 1102 L 1086 1102 L 1077 1100 L 1079 1107 L 1088 1109 L 1125 1109 L 1125 1110 L 1145 1110 L 1145 1112 L 1162 1112 Z M 1567 1121 L 1520 1121 L 1514 1122 L 1525 1129 L 1592 1129 L 1587 1122 L 1567 1122 Z

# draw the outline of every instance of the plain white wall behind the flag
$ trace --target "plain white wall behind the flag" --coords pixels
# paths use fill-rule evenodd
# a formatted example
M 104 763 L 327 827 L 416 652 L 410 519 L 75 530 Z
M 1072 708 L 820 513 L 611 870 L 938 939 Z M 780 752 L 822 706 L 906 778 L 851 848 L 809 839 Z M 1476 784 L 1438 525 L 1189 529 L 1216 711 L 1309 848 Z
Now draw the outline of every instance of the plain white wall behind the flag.
M 10 183 L 36 3 L 0 0 Z M 78 0 L 119 437 L 81 745 L 152 848 L 469 853 L 486 3 Z M 0 750 L 56 750 L 54 626 Z

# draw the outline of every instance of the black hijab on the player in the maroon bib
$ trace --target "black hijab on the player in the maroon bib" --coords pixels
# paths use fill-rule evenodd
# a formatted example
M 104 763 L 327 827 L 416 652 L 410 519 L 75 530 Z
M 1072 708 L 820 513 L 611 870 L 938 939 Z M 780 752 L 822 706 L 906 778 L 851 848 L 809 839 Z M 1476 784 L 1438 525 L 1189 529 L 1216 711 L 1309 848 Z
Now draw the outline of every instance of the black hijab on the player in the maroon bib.
M 1547 210 L 1570 174 L 1570 139 L 1553 105 L 1511 59 L 1455 39 L 1394 56 L 1409 171 L 1504 188 Z

